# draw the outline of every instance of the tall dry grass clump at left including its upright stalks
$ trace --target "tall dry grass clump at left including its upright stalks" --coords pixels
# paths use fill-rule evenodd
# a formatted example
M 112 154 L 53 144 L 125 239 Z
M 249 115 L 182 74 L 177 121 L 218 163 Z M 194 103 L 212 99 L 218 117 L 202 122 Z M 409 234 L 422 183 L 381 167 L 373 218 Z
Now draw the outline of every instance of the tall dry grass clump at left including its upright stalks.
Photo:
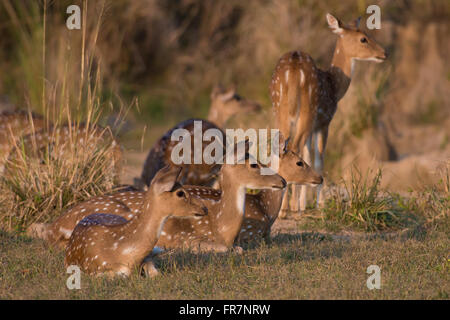
M 42 20 L 25 20 L 24 23 L 19 22 L 18 17 L 38 11 L 38 3 L 4 1 L 3 5 L 13 21 L 22 27 L 18 37 L 24 43 L 34 42 L 42 52 L 41 61 L 33 60 L 42 67 L 40 81 L 34 78 L 33 86 L 24 92 L 31 100 L 36 100 L 30 102 L 39 106 L 48 125 L 43 131 L 17 141 L 11 137 L 15 149 L 0 178 L 0 227 L 23 231 L 33 222 L 52 220 L 74 203 L 113 190 L 118 182 L 120 150 L 110 129 L 98 126 L 107 102 L 101 97 L 100 62 L 94 59 L 102 15 L 93 27 L 96 33 L 90 34 L 89 39 L 83 30 L 80 63 L 70 65 L 72 71 L 78 66 L 78 76 L 68 72 L 69 59 L 61 69 L 64 72 L 57 74 L 52 82 L 47 74 L 53 78 L 55 66 L 51 65 L 50 70 L 46 68 L 46 51 L 49 50 L 45 41 L 46 2 Z M 37 39 L 42 42 L 36 43 Z M 58 47 L 61 47 L 64 39 L 59 40 Z M 36 50 L 28 45 L 21 49 L 31 60 L 37 58 Z M 62 57 L 72 55 L 73 59 L 70 47 L 60 53 Z M 120 117 L 118 119 L 120 121 Z M 30 117 L 30 126 L 33 126 L 32 121 Z

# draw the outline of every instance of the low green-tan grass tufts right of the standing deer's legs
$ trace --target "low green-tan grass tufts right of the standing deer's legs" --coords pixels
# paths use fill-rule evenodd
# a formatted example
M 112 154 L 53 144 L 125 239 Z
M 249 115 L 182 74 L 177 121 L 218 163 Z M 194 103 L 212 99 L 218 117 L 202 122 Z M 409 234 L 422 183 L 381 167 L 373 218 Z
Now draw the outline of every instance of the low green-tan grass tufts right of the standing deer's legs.
M 330 196 L 311 226 L 339 231 L 387 231 L 416 228 L 450 215 L 450 165 L 438 172 L 440 183 L 410 192 L 408 197 L 380 190 L 381 169 L 362 173 L 351 169 L 351 178 L 330 189 Z

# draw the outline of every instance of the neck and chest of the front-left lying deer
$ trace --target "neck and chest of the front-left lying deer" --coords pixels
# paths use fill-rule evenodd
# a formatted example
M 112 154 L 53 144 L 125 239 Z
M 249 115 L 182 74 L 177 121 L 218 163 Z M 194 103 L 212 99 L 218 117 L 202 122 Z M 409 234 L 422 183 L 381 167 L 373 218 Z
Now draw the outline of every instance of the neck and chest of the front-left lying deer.
M 117 241 L 116 250 L 122 254 L 129 253 L 136 261 L 142 261 L 153 249 L 168 218 L 168 215 L 155 209 L 155 201 L 148 198 L 142 203 L 140 212 L 125 226 L 116 227 L 118 239 L 124 237 Z

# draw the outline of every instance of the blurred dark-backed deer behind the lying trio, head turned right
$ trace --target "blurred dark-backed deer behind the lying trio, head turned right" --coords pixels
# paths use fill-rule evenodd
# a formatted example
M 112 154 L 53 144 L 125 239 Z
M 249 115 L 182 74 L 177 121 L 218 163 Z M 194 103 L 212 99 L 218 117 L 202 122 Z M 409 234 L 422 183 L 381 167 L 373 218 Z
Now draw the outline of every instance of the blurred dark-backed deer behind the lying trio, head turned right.
M 171 160 L 171 153 L 178 141 L 171 141 L 172 133 L 176 129 L 186 129 L 194 135 L 194 121 L 202 122 L 202 136 L 209 129 L 217 129 L 225 137 L 222 126 L 226 121 L 235 114 L 258 111 L 260 106 L 253 101 L 240 97 L 234 89 L 224 90 L 222 87 L 215 87 L 211 93 L 211 107 L 209 110 L 208 120 L 189 119 L 180 122 L 172 129 L 167 131 L 153 146 L 148 153 L 144 163 L 141 177 L 135 179 L 135 184 L 143 188 L 149 185 L 155 173 L 167 164 L 174 165 Z M 209 145 L 209 142 L 203 141 L 203 150 Z M 191 154 L 194 157 L 194 141 L 191 139 Z M 220 166 L 215 164 L 194 164 L 183 166 L 183 183 L 190 185 L 211 186 L 216 180 L 216 174 Z

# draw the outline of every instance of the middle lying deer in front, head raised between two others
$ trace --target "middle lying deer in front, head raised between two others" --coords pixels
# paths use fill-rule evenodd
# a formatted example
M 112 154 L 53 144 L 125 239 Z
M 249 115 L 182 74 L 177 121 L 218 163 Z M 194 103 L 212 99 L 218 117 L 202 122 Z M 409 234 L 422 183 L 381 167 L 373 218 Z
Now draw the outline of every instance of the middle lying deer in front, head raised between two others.
M 185 186 L 203 200 L 208 216 L 198 220 L 169 219 L 156 244 L 161 248 L 191 248 L 225 252 L 239 234 L 246 208 L 246 189 L 284 190 L 286 181 L 278 174 L 261 175 L 262 165 L 246 153 L 244 164 L 224 164 L 220 170 L 221 190 Z

